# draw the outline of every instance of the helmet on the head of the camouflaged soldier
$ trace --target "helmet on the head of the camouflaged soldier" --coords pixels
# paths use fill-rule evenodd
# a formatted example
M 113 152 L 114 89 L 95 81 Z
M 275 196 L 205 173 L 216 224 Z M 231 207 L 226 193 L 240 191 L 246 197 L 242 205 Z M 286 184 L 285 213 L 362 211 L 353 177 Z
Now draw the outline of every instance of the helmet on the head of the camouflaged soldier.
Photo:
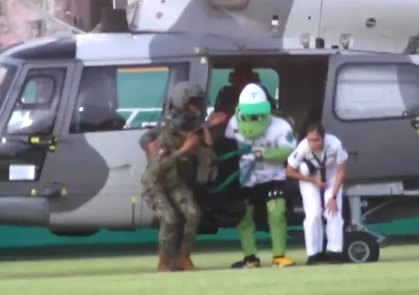
M 173 109 L 182 110 L 192 99 L 203 97 L 203 89 L 196 83 L 179 82 L 170 91 L 170 102 Z

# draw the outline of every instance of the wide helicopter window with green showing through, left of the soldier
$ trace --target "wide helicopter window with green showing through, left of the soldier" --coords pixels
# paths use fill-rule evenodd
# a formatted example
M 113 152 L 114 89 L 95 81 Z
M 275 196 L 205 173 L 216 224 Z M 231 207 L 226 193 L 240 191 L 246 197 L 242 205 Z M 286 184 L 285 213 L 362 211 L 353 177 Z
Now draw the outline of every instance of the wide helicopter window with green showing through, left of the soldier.
M 166 67 L 85 67 L 70 132 L 144 128 L 157 123 L 168 78 Z

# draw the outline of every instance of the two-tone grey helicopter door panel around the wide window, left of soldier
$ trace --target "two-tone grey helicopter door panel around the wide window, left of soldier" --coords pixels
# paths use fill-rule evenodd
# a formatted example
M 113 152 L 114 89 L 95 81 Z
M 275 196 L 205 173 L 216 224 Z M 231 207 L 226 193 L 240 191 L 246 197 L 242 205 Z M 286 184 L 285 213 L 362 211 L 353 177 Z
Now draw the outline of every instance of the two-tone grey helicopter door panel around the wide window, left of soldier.
M 74 111 L 78 107 L 80 87 L 83 87 L 80 79 L 83 79 L 83 71 L 89 67 L 96 67 L 98 73 L 101 73 L 101 68 L 107 66 L 115 68 L 165 66 L 169 69 L 169 77 L 162 91 L 164 100 L 159 100 L 160 107 L 163 107 L 169 96 L 168 90 L 177 82 L 189 80 L 194 76 L 191 73 L 193 62 L 195 61 L 191 57 L 80 60 L 71 87 L 65 123 L 60 131 L 63 139 L 61 149 L 58 147 L 58 153 L 61 157 L 68 158 L 68 160 L 61 159 L 62 166 L 68 169 L 60 170 L 60 175 L 66 175 L 67 178 L 74 175 L 72 172 L 76 167 L 72 163 L 89 163 L 89 169 L 84 169 L 78 175 L 71 176 L 71 180 L 65 181 L 68 191 L 67 201 L 63 198 L 60 202 L 55 202 L 51 224 L 54 226 L 70 224 L 80 226 L 82 229 L 89 226 L 92 229 L 103 227 L 135 229 L 155 224 L 157 220 L 155 213 L 148 208 L 144 199 L 139 197 L 141 195 L 139 179 L 146 167 L 146 154 L 139 145 L 139 139 L 152 126 L 71 131 Z M 101 88 L 98 91 L 101 91 Z M 144 99 L 144 96 L 139 97 Z M 157 119 L 156 117 L 155 120 Z M 83 177 L 83 173 L 91 175 L 90 178 Z M 73 194 L 76 190 L 78 193 Z M 103 208 L 109 206 L 112 206 L 113 214 L 103 214 Z

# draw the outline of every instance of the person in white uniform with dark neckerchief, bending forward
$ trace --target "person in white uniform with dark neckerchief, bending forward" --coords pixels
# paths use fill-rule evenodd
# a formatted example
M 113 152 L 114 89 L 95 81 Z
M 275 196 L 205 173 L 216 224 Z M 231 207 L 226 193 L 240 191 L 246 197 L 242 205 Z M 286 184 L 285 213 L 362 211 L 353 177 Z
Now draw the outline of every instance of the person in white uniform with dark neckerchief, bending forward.
M 323 251 L 322 216 L 327 220 L 327 254 L 331 262 L 341 261 L 342 184 L 346 159 L 348 154 L 341 141 L 332 134 L 325 134 L 325 129 L 320 123 L 307 127 L 307 137 L 288 158 L 287 176 L 300 181 L 305 211 L 307 265 L 316 264 Z M 322 204 L 325 204 L 325 208 Z

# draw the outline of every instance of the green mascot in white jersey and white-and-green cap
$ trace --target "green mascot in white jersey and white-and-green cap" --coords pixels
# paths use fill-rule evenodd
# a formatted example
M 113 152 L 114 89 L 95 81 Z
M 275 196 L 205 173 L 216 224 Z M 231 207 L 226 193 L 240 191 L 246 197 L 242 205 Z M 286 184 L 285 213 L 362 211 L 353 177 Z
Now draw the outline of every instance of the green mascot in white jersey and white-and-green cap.
M 239 146 L 247 145 L 251 152 L 240 159 L 241 193 L 247 210 L 239 223 L 244 259 L 232 267 L 255 268 L 257 258 L 255 222 L 257 206 L 266 206 L 271 232 L 274 267 L 289 267 L 295 262 L 285 256 L 287 239 L 286 168 L 284 162 L 296 147 L 293 128 L 282 118 L 271 116 L 266 93 L 257 84 L 247 84 L 239 96 L 236 114 L 228 121 L 225 137 L 234 138 Z

